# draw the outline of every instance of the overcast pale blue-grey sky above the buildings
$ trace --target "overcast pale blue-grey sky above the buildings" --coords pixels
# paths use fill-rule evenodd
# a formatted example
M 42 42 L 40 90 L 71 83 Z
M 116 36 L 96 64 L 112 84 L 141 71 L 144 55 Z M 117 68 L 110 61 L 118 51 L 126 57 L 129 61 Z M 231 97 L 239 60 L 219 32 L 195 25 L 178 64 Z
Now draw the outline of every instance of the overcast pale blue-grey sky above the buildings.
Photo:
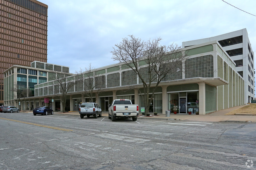
M 161 37 L 161 45 L 208 38 L 246 28 L 256 50 L 256 1 L 39 0 L 48 5 L 48 63 L 75 73 L 115 64 L 112 47 L 134 35 Z M 247 54 L 244 54 L 247 55 Z

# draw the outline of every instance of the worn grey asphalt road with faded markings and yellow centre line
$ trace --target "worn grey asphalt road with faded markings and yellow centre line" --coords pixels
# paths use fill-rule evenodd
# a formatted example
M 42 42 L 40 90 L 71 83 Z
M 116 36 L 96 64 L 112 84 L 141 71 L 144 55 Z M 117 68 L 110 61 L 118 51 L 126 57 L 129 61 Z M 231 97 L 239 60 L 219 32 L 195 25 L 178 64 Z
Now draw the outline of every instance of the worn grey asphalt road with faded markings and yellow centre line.
M 0 113 L 0 128 L 0 169 L 256 169 L 256 123 Z

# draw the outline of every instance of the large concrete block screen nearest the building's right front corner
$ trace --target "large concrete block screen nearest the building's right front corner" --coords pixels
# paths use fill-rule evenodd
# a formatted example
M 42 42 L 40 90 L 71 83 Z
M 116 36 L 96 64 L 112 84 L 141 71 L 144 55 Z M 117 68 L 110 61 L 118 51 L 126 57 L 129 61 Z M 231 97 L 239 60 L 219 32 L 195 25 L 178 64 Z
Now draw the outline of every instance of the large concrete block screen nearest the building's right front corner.
M 185 78 L 213 77 L 213 56 L 200 56 L 185 61 Z

